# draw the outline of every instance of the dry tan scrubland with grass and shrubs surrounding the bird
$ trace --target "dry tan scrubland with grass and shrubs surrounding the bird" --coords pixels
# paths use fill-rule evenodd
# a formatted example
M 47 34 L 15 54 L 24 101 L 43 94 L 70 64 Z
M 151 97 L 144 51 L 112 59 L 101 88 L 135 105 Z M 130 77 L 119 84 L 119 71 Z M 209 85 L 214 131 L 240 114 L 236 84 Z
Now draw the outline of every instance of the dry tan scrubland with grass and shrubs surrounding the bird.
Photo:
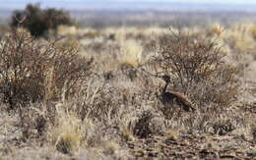
M 26 27 L 1 33 L 0 159 L 256 156 L 255 24 Z

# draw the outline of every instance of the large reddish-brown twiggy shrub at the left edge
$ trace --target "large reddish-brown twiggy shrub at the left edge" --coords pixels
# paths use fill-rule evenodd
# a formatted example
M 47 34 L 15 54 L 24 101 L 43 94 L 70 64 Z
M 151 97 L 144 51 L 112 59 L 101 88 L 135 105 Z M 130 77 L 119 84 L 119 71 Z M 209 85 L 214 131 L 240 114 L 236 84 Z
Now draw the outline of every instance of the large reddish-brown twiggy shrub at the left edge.
M 14 109 L 18 102 L 68 98 L 91 75 L 93 60 L 76 47 L 35 40 L 23 29 L 0 42 L 0 92 Z

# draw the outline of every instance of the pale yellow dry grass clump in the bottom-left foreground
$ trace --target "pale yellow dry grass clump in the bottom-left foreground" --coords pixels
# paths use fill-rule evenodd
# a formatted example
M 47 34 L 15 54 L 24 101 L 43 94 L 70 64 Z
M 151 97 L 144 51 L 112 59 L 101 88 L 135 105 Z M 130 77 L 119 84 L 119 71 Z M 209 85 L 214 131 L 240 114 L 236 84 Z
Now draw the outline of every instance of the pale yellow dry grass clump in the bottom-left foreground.
M 50 141 L 58 151 L 71 153 L 81 146 L 94 124 L 88 119 L 81 121 L 76 113 L 63 108 L 57 109 L 56 117 L 56 125 L 48 132 Z

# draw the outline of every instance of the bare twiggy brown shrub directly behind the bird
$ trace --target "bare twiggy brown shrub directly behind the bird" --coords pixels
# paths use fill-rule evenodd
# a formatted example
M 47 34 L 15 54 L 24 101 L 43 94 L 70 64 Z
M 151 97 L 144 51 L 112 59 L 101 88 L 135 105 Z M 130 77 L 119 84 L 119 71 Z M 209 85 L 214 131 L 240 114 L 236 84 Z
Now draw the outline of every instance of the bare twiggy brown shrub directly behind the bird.
M 213 39 L 181 32 L 164 35 L 153 64 L 172 78 L 173 89 L 189 95 L 200 108 L 210 103 L 228 106 L 237 95 L 238 71 L 224 62 Z

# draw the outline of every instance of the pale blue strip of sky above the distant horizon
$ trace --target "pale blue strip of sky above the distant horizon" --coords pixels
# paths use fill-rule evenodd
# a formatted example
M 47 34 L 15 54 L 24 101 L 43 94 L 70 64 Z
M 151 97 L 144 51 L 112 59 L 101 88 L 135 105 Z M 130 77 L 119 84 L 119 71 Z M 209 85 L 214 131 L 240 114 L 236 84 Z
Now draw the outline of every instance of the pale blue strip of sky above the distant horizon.
M 0 0 L 0 2 L 4 2 Z M 253 10 L 256 1 L 247 0 L 9 0 L 1 9 L 22 9 L 29 3 L 63 9 L 209 9 Z

